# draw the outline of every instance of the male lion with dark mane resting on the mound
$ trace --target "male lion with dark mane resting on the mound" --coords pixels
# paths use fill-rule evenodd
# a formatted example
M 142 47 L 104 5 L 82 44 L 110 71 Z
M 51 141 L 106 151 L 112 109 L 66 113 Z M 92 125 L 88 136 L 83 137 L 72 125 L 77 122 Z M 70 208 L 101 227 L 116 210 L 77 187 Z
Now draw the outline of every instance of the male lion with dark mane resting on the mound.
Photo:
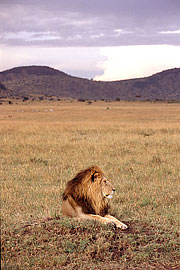
M 94 219 L 103 224 L 113 223 L 116 227 L 126 230 L 127 225 L 108 215 L 108 201 L 114 191 L 111 182 L 99 167 L 87 168 L 67 183 L 63 193 L 62 213 L 78 220 Z

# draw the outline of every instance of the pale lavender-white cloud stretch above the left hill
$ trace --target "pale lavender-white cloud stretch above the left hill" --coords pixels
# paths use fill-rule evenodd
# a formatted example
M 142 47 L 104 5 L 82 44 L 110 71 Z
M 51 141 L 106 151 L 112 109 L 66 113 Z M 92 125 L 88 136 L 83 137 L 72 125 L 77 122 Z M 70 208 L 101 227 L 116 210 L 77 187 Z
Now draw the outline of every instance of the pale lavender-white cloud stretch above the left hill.
M 45 65 L 89 79 L 103 72 L 98 63 L 105 60 L 99 47 L 0 46 L 0 57 L 0 71 L 16 66 Z

